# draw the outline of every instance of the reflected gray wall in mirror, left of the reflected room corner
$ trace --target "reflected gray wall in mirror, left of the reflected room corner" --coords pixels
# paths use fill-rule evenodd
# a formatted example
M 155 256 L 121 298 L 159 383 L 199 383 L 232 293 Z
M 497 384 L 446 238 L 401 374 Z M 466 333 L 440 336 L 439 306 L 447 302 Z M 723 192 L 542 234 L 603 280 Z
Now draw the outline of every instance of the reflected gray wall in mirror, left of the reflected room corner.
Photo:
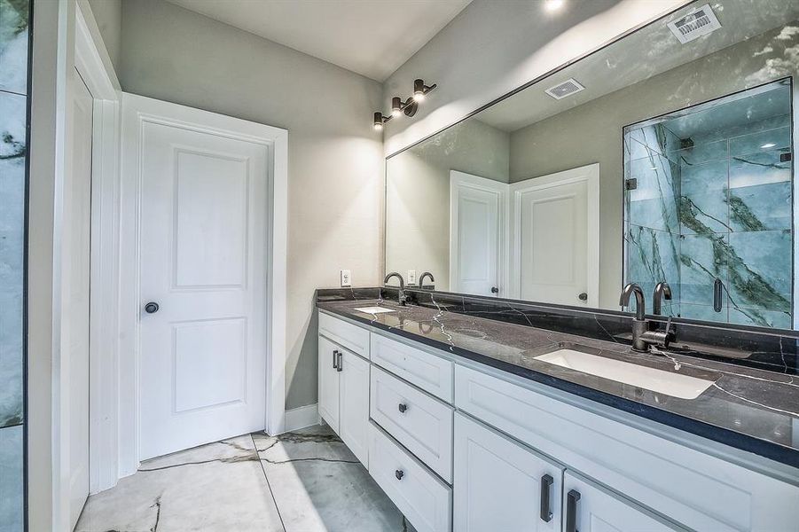
M 476 119 L 399 153 L 386 168 L 386 270 L 450 286 L 450 170 L 508 182 L 510 135 Z M 429 282 L 429 281 L 428 281 Z

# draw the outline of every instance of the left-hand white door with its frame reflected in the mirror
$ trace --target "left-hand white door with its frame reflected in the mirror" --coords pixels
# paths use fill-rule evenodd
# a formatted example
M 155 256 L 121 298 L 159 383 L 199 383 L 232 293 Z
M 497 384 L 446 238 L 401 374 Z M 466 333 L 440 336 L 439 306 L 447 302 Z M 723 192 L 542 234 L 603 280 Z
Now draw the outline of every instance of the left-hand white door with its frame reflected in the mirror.
M 450 292 L 498 296 L 507 184 L 450 171 Z

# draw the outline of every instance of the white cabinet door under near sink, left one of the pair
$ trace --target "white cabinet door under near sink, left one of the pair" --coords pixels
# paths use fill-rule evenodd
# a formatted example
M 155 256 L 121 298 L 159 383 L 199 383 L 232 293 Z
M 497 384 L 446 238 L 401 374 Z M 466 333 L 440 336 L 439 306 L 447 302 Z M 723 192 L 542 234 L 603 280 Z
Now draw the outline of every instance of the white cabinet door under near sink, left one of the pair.
M 562 474 L 560 465 L 455 414 L 455 532 L 560 531 Z

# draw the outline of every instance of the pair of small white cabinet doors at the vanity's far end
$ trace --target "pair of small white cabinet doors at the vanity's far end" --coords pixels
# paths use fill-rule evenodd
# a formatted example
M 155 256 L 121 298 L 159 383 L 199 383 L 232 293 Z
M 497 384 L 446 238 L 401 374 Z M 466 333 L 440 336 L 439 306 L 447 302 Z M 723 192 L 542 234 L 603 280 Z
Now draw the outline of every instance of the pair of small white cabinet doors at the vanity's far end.
M 369 362 L 319 336 L 319 415 L 369 466 Z

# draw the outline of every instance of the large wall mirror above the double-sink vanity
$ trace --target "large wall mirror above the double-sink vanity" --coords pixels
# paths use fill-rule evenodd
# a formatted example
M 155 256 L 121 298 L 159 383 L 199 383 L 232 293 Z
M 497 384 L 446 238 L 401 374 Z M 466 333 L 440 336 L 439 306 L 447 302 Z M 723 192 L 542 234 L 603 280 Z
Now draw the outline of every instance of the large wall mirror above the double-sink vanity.
M 796 74 L 795 0 L 688 4 L 389 157 L 386 270 L 794 329 Z

